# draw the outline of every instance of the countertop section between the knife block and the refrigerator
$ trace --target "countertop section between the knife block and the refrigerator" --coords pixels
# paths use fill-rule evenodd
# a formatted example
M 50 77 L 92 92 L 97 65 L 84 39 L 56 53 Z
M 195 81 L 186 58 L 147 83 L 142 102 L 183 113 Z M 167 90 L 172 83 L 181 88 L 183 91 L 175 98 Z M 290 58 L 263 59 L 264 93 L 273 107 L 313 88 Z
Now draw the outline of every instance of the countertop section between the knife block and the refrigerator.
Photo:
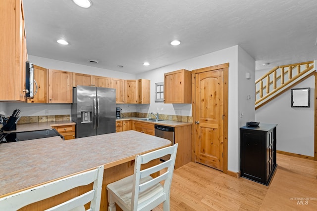
M 55 122 L 44 122 L 44 123 L 27 123 L 27 124 L 19 124 L 16 126 L 16 130 L 4 131 L 5 133 L 9 132 L 24 132 L 24 131 L 32 131 L 32 130 L 42 130 L 42 129 L 52 129 L 54 126 L 60 125 L 76 125 L 76 123 L 72 121 L 55 121 Z

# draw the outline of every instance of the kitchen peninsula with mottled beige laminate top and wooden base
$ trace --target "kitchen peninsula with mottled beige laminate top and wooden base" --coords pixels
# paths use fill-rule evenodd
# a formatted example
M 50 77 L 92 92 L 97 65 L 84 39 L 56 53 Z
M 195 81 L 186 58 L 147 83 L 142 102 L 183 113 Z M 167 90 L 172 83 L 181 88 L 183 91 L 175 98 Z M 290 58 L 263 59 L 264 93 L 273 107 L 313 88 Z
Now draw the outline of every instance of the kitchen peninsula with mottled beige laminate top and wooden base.
M 104 165 L 101 210 L 107 210 L 106 185 L 133 174 L 136 155 L 170 144 L 166 139 L 133 130 L 68 141 L 56 136 L 0 144 L 0 197 Z M 66 201 L 80 191 L 77 188 L 54 197 L 50 205 L 52 201 Z M 43 200 L 27 209 L 47 208 L 48 200 Z

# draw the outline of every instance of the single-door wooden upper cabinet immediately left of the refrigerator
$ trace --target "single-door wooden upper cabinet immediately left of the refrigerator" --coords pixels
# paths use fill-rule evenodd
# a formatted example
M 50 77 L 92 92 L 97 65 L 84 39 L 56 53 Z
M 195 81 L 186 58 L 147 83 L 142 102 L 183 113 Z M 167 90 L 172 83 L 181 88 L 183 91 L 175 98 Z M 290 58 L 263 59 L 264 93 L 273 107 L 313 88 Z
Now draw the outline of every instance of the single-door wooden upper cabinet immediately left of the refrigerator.
M 73 102 L 73 73 L 49 69 L 49 103 Z

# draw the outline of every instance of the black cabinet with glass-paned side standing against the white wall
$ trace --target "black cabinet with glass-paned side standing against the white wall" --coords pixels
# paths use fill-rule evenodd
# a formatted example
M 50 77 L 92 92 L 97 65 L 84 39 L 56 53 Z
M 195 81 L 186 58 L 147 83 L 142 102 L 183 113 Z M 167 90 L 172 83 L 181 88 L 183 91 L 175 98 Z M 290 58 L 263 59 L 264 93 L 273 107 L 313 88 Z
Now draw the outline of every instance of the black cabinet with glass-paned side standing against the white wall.
M 276 126 L 240 128 L 241 176 L 268 185 L 276 169 Z

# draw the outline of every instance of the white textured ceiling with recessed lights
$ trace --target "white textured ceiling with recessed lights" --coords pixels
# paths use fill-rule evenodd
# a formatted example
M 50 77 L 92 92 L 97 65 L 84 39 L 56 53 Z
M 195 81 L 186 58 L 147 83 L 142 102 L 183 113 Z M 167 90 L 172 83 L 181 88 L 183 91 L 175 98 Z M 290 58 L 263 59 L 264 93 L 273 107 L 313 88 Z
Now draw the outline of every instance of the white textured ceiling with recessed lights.
M 131 74 L 233 45 L 257 69 L 317 59 L 317 0 L 91 1 L 23 0 L 28 54 Z

